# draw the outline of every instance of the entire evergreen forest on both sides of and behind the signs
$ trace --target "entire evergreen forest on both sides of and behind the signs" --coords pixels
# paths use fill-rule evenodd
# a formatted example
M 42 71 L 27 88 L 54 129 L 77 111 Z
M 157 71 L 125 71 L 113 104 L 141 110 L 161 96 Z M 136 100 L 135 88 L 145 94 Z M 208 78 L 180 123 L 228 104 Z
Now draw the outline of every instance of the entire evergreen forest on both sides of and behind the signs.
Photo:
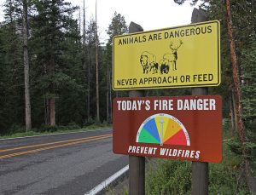
M 174 0 L 180 6 L 185 1 Z M 111 124 L 113 98 L 128 95 L 112 90 L 112 39 L 128 33 L 125 17 L 113 12 L 108 42 L 100 43 L 96 17 L 85 20 L 84 8 L 67 1 L 5 0 L 3 8 L 0 135 Z M 75 19 L 79 9 L 81 18 Z M 222 95 L 226 130 L 235 135 L 230 148 L 251 163 L 255 175 L 256 2 L 205 0 L 200 9 L 221 24 L 222 83 L 209 94 Z M 151 89 L 145 95 L 191 95 L 191 89 Z

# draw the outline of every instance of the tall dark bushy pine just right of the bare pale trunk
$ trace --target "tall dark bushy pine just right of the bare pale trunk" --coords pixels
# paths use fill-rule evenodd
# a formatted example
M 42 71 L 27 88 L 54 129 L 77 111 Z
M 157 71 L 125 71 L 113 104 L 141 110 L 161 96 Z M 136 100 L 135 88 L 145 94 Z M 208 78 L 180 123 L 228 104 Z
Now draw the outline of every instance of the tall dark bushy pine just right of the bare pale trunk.
M 53 126 L 58 84 L 55 75 L 61 72 L 61 55 L 65 50 L 61 43 L 68 36 L 72 14 L 77 8 L 63 0 L 37 0 L 34 3 L 38 14 L 32 20 L 32 39 L 37 65 L 41 66 L 38 76 L 42 79 L 40 83 L 44 91 L 45 123 Z

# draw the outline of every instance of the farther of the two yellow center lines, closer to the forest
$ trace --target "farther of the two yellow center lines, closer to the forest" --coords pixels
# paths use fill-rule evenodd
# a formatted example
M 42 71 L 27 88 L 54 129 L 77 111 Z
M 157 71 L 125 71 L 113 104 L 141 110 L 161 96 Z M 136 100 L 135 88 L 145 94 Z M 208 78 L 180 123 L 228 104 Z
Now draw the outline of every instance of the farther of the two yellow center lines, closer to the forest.
M 107 135 L 112 135 L 112 134 L 107 134 Z M 88 140 L 88 139 L 91 139 L 91 138 L 98 138 L 98 137 L 104 137 L 104 136 L 106 136 L 106 135 L 97 135 L 97 136 L 78 138 L 78 139 L 67 140 L 67 141 L 55 141 L 55 142 L 49 142 L 49 143 L 44 143 L 44 144 L 36 144 L 36 145 L 30 145 L 30 146 L 20 146 L 20 147 L 2 149 L 2 150 L 0 150 L 0 152 L 9 152 L 9 151 L 26 149 L 26 148 L 30 148 L 30 147 L 38 147 L 38 146 L 49 146 L 49 145 L 53 145 L 53 144 L 61 144 L 61 143 L 66 143 L 66 142 L 70 142 L 70 141 L 83 141 L 83 140 Z

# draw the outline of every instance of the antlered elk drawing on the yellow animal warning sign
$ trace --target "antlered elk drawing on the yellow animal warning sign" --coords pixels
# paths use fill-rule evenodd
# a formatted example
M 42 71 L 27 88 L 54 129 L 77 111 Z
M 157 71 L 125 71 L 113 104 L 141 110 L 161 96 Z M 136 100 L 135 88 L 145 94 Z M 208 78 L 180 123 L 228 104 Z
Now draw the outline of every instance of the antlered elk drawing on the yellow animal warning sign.
M 183 44 L 182 40 L 179 40 L 177 44 L 171 42 L 169 48 L 172 53 L 166 53 L 163 55 L 163 59 L 160 60 L 160 73 L 168 73 L 170 64 L 172 64 L 172 71 L 177 70 L 177 49 Z

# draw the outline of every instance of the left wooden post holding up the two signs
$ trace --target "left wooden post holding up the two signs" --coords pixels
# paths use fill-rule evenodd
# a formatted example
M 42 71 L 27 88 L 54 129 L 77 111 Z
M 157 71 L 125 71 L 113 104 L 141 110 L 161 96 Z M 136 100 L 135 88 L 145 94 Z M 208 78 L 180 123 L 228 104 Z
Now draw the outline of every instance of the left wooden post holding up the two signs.
M 131 22 L 129 32 L 143 32 L 143 27 Z M 144 91 L 131 90 L 129 97 L 142 97 Z M 145 194 L 145 158 L 129 156 L 129 194 Z

